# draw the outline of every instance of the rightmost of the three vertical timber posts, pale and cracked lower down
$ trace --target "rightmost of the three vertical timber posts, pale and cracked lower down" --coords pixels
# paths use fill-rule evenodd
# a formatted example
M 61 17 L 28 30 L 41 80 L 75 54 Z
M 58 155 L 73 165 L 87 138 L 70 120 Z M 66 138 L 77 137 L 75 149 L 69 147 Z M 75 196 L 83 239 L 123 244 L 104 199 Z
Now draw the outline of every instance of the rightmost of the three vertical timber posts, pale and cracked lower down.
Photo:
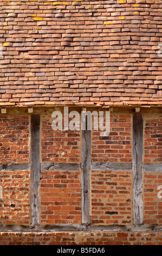
M 142 174 L 143 174 L 143 119 L 133 115 L 133 223 L 143 223 Z

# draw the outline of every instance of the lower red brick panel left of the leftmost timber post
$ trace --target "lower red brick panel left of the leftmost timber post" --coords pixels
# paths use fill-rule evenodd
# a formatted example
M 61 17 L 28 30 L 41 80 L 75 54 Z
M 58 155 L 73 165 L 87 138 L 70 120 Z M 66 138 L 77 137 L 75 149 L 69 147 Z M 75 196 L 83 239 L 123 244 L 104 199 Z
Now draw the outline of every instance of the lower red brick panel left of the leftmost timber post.
M 29 225 L 30 220 L 30 172 L 1 171 L 0 224 Z

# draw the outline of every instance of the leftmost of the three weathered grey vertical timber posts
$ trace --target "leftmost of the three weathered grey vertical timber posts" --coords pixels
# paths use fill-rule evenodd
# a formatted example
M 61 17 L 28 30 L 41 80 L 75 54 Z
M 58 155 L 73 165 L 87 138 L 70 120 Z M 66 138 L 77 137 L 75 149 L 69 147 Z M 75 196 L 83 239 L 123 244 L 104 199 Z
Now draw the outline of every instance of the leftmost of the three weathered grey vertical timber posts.
M 31 218 L 32 225 L 39 224 L 40 188 L 40 115 L 31 115 Z

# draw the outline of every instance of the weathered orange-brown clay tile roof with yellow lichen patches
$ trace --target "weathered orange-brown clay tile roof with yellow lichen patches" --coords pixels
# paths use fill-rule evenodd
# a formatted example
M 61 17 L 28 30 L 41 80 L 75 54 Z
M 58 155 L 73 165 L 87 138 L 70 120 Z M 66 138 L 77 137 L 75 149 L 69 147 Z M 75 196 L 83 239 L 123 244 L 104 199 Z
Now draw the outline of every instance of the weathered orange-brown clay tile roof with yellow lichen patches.
M 0 106 L 162 105 L 161 1 L 1 0 L 0 10 Z

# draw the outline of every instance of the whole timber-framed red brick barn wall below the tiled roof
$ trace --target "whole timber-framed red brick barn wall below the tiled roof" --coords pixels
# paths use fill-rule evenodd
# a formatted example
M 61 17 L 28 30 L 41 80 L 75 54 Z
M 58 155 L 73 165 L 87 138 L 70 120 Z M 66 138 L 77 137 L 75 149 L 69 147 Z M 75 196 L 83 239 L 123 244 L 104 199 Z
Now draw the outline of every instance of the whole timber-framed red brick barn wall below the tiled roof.
M 56 110 L 0 115 L 0 243 L 159 244 L 161 108 L 95 108 L 111 110 L 108 136 L 53 130 Z

